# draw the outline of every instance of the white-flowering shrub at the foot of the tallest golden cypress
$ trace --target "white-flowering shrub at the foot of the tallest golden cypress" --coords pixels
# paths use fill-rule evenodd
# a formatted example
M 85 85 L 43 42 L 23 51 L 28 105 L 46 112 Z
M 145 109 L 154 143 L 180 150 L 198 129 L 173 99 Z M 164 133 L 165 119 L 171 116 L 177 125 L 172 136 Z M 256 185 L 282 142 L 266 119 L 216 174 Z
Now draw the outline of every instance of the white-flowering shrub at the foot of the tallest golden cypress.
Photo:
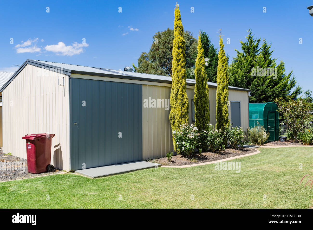
M 177 146 L 177 152 L 190 155 L 200 145 L 200 134 L 198 128 L 191 124 L 180 125 L 179 129 L 173 131 L 173 138 Z

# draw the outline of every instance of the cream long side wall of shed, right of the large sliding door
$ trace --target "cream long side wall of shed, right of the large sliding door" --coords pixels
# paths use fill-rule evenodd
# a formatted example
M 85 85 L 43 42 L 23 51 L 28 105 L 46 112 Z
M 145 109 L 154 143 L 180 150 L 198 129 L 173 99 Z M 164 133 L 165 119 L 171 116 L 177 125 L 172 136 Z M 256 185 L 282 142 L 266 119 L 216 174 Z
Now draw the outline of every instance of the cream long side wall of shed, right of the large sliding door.
M 189 124 L 192 122 L 192 99 L 194 86 L 187 85 L 186 93 L 189 101 Z M 229 101 L 240 101 L 241 126 L 244 131 L 249 125 L 249 99 L 246 91 L 229 90 Z M 171 85 L 142 85 L 142 100 L 170 99 Z M 216 88 L 209 88 L 210 124 L 216 124 Z M 164 108 L 142 108 L 142 155 L 143 160 L 165 157 L 168 151 L 173 151 L 172 129 L 168 120 L 170 110 Z M 230 107 L 228 107 L 229 119 Z

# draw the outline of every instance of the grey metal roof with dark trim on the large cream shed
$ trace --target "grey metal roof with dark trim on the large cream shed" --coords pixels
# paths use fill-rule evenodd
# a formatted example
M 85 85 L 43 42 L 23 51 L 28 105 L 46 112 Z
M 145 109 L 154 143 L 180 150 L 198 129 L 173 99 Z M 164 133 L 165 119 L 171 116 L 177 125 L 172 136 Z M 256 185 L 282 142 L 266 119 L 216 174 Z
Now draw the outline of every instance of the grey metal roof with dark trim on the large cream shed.
M 112 78 L 120 78 L 120 79 L 132 79 L 132 80 L 142 80 L 142 81 L 152 81 L 152 82 L 161 82 L 172 84 L 172 78 L 169 76 L 161 76 L 154 74 L 143 74 L 136 72 L 127 72 L 121 70 L 113 70 L 113 69 L 104 69 L 104 68 L 96 68 L 89 66 L 81 66 L 81 65 L 71 65 L 57 62 L 47 62 L 47 61 L 38 61 L 27 59 L 22 66 L 13 74 L 13 76 L 1 87 L 0 91 L 7 87 L 8 84 L 15 78 L 15 76 L 27 65 L 31 64 L 34 66 L 42 67 L 42 68 L 53 68 L 56 71 L 59 71 L 61 74 L 65 74 L 70 76 L 71 74 L 85 74 L 92 76 L 102 76 L 102 77 L 112 77 Z M 196 81 L 194 79 L 187 79 L 187 85 L 195 85 Z M 217 84 L 213 82 L 208 82 L 208 86 L 211 88 L 216 88 Z M 233 90 L 241 90 L 250 92 L 249 89 L 238 88 L 234 86 L 228 86 L 228 89 Z

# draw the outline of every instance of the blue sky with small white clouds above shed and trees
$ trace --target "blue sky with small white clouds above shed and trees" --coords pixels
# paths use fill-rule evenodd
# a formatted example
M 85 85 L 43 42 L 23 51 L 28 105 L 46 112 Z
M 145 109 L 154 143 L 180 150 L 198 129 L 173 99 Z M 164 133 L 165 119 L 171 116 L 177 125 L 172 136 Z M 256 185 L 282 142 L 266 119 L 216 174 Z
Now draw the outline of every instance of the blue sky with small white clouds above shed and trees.
M 2 1 L 0 70 L 26 59 L 123 69 L 148 52 L 157 31 L 173 28 L 176 1 Z M 218 47 L 222 29 L 230 60 L 247 30 L 267 39 L 300 86 L 313 90 L 310 1 L 178 1 L 182 23 Z M 49 13 L 47 13 L 49 7 Z M 119 13 L 119 7 L 122 12 Z M 194 13 L 191 13 L 191 7 Z M 266 7 L 266 13 L 263 13 Z M 124 35 L 123 35 L 124 34 Z M 13 38 L 13 44 L 10 39 Z M 85 38 L 85 44 L 83 44 Z M 302 44 L 299 44 L 302 38 Z

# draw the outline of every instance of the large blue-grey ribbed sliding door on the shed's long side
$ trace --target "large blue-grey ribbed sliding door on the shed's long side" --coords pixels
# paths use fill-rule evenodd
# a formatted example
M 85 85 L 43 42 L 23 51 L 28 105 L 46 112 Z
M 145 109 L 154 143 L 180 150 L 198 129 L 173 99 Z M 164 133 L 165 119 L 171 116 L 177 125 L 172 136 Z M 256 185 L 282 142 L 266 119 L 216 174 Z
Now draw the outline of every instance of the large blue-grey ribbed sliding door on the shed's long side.
M 70 101 L 71 170 L 142 160 L 141 84 L 71 78 Z

